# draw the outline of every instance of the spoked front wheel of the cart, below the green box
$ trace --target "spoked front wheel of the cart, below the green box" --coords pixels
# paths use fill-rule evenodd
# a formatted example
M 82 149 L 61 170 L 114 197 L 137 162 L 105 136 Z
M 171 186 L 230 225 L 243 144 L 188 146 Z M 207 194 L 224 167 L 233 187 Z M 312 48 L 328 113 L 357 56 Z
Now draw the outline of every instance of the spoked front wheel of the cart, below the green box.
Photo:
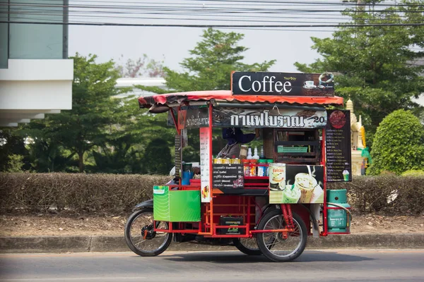
M 125 225 L 126 245 L 142 257 L 154 257 L 165 252 L 172 233 L 156 232 L 153 228 L 153 209 L 141 209 L 129 216 Z M 156 221 L 156 228 L 168 229 L 165 221 Z

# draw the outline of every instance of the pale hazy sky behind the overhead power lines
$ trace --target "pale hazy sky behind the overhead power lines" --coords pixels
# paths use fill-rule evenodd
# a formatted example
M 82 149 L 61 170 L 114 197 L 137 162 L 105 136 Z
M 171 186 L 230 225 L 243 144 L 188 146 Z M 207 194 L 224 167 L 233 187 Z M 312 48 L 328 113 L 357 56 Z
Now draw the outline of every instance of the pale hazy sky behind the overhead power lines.
M 100 0 L 98 0 L 100 1 Z M 69 1 L 70 4 L 73 3 L 73 0 Z M 78 1 L 75 1 L 78 3 Z M 181 0 L 181 1 L 171 1 L 171 0 L 160 0 L 160 1 L 147 1 L 147 3 L 164 3 L 168 2 L 169 4 L 190 4 L 194 7 L 205 4 L 204 7 L 207 10 L 210 7 L 220 7 L 220 8 L 234 8 L 225 1 L 190 1 L 190 0 Z M 319 6 L 293 6 L 293 4 L 266 4 L 262 5 L 260 3 L 254 2 L 252 5 L 259 8 L 313 8 L 317 9 Z M 284 1 L 282 1 L 284 2 Z M 307 1 L 300 1 L 305 4 Z M 325 1 L 324 1 L 325 2 Z M 333 3 L 341 2 L 332 0 Z M 122 4 L 126 5 L 135 5 L 143 4 L 146 1 L 124 1 L 117 0 L 113 2 L 107 1 L 86 1 L 85 3 L 93 4 Z M 242 5 L 244 2 L 235 2 L 237 5 Z M 248 3 L 248 2 L 246 2 Z M 269 1 L 268 1 L 269 3 Z M 314 1 L 317 3 L 317 1 Z M 215 6 L 213 6 L 215 5 Z M 224 5 L 224 6 L 222 6 Z M 240 8 L 240 6 L 238 6 Z M 322 6 L 322 8 L 332 8 L 334 9 L 343 9 L 345 6 L 339 5 L 334 8 L 334 6 Z M 160 11 L 160 10 L 158 10 Z M 77 18 L 75 13 L 71 13 L 70 20 L 81 20 Z M 312 13 L 310 15 L 300 15 L 292 12 L 282 12 L 276 14 L 270 14 L 270 16 L 264 16 L 263 20 L 275 20 L 281 16 L 281 19 L 284 17 L 283 22 L 274 22 L 276 24 L 302 24 L 302 23 L 338 23 L 341 20 L 337 20 L 337 17 L 340 17 L 340 13 L 330 13 L 329 18 L 326 18 L 325 13 Z M 129 15 L 131 16 L 131 15 Z M 137 15 L 136 15 L 137 16 Z M 146 16 L 146 15 L 144 15 Z M 151 17 L 150 15 L 148 15 Z M 252 18 L 254 18 L 252 14 Z M 256 15 L 257 16 L 257 15 Z M 290 16 L 299 17 L 297 19 L 293 18 L 290 20 Z M 108 23 L 182 23 L 182 20 L 143 20 L 143 16 L 140 18 L 134 19 L 136 17 L 132 16 L 131 19 L 115 19 L 115 18 L 90 18 L 90 22 L 108 22 Z M 217 16 L 219 18 L 219 16 Z M 248 17 L 248 16 L 247 16 Z M 310 19 L 316 17 L 314 19 Z M 331 19 L 334 17 L 334 19 Z M 210 18 L 216 20 L 218 18 Z M 319 18 L 319 19 L 318 19 Z M 206 21 L 199 20 L 190 20 L 184 23 L 190 24 L 229 24 L 224 21 Z M 222 17 L 220 18 L 222 19 Z M 85 20 L 88 20 L 87 18 Z M 232 19 L 233 20 L 233 19 Z M 231 23 L 230 23 L 231 24 Z M 232 24 L 261 24 L 261 23 L 247 23 L 247 22 L 232 22 Z M 270 23 L 265 23 L 270 24 Z M 273 23 L 271 23 L 273 24 Z M 80 54 L 97 54 L 99 61 L 107 61 L 109 59 L 114 59 L 115 61 L 119 59 L 119 56 L 123 55 L 125 59 L 137 59 L 143 54 L 146 54 L 150 59 L 155 59 L 158 61 L 164 60 L 164 65 L 175 70 L 182 71 L 179 63 L 182 59 L 189 57 L 189 50 L 193 49 L 196 46 L 196 43 L 201 40 L 202 28 L 192 28 L 192 27 L 99 27 L 99 26 L 69 26 L 69 56 L 73 56 L 77 51 Z M 242 40 L 241 45 L 248 47 L 249 50 L 245 52 L 245 63 L 259 63 L 263 61 L 270 61 L 276 59 L 276 64 L 269 71 L 278 71 L 278 72 L 293 72 L 296 71 L 293 63 L 299 61 L 300 63 L 312 63 L 314 59 L 317 59 L 319 55 L 315 50 L 312 50 L 312 40 L 310 37 L 331 37 L 331 32 L 318 32 L 313 30 L 319 30 L 318 28 L 309 28 L 309 31 L 287 31 L 287 30 L 242 30 L 242 29 L 221 29 L 224 32 L 240 32 L 245 34 L 245 38 Z M 290 30 L 293 30 L 290 29 Z M 305 30 L 305 28 L 304 28 Z M 306 30 L 308 30 L 306 28 Z M 324 30 L 332 30 L 331 27 L 325 27 Z

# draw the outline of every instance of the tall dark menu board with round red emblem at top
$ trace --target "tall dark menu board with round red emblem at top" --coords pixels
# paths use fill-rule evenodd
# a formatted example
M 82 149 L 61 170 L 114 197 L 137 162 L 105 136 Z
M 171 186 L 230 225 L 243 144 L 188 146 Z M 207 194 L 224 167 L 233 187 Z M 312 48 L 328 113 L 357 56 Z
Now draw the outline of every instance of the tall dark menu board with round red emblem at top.
M 327 110 L 326 179 L 352 181 L 351 111 Z

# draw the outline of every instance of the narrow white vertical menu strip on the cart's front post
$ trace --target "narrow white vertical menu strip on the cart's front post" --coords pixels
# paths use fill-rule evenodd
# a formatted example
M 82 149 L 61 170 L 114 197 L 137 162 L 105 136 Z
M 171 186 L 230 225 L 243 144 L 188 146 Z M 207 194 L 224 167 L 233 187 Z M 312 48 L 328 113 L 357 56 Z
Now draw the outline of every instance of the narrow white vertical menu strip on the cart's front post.
M 211 133 L 200 128 L 200 183 L 201 202 L 211 202 Z

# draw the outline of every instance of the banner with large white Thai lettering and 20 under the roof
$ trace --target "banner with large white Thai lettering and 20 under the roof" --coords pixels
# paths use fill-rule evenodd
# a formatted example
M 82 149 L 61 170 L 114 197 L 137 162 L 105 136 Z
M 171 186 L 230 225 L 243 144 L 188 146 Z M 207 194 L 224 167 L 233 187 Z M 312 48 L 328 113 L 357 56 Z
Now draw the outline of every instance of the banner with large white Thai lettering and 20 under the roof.
M 323 128 L 326 111 L 293 109 L 213 109 L 213 126 L 249 128 Z

